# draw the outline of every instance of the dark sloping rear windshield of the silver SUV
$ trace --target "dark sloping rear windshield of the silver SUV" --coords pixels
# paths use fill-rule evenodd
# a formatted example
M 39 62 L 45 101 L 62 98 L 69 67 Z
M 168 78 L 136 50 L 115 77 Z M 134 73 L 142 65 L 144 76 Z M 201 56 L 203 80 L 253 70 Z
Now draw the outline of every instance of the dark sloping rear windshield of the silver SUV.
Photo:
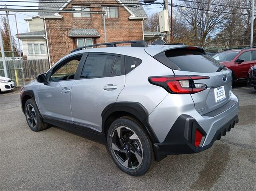
M 165 54 L 183 71 L 211 73 L 216 72 L 222 66 L 211 56 L 197 49 L 172 49 L 166 51 Z

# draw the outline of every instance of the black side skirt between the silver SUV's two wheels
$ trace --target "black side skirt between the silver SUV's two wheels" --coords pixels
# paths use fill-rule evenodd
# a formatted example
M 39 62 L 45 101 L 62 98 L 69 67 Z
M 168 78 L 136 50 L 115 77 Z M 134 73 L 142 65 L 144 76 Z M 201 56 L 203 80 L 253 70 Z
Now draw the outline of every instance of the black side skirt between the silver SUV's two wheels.
M 57 121 L 57 120 L 52 120 L 52 119 L 43 119 L 44 122 L 48 124 L 52 124 L 53 126 L 57 126 L 59 128 L 62 128 L 64 130 L 67 130 L 69 132 L 74 132 L 76 134 L 80 134 L 82 136 L 86 136 L 89 139 L 96 140 L 98 142 L 101 142 L 103 144 L 106 144 L 106 137 L 104 134 L 96 132 L 90 128 L 70 124 L 70 123 L 65 123 L 62 121 Z

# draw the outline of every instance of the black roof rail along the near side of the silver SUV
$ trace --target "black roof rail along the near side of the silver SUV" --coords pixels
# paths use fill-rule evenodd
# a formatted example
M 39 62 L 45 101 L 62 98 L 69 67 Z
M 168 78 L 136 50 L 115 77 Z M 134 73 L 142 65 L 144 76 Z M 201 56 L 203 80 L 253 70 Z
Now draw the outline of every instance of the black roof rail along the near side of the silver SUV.
M 94 47 L 94 46 L 101 46 L 101 45 L 106 45 L 106 47 L 116 47 L 116 44 L 125 44 L 125 43 L 130 43 L 132 47 L 148 47 L 148 44 L 146 43 L 145 40 L 134 40 L 134 41 L 120 41 L 120 42 L 108 42 L 108 43 L 100 43 L 100 44 L 92 44 L 88 46 L 82 46 L 79 48 L 76 48 L 70 53 L 82 50 L 83 48 L 88 48 L 88 47 Z

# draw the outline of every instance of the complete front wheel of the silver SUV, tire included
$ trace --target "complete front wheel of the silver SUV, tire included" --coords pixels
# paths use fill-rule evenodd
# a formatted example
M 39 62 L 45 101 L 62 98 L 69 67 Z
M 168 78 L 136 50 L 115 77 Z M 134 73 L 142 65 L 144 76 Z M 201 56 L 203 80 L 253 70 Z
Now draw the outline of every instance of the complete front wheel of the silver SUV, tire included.
M 26 121 L 32 131 L 42 131 L 48 128 L 48 124 L 42 121 L 34 99 L 26 101 L 24 110 Z

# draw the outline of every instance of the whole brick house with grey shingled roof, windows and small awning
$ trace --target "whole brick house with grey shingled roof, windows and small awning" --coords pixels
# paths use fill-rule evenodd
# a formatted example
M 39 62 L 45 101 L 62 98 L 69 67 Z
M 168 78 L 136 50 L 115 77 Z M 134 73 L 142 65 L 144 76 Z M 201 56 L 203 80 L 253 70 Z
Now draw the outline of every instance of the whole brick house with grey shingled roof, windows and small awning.
M 56 10 L 73 8 L 75 10 L 106 11 L 106 37 L 107 41 L 128 41 L 144 38 L 143 20 L 147 15 L 142 8 L 130 7 L 134 0 L 108 0 L 99 3 L 99 0 L 90 0 L 86 5 L 79 4 L 80 0 L 67 1 L 66 3 L 45 3 L 39 0 L 40 7 Z M 93 3 L 95 2 L 95 4 Z M 138 1 L 139 2 L 139 1 Z M 104 6 L 115 7 L 104 7 Z M 102 14 L 81 13 L 39 13 L 39 18 L 44 20 L 46 42 L 48 44 L 49 60 L 54 64 L 58 59 L 68 54 L 72 49 L 104 43 L 104 24 Z

